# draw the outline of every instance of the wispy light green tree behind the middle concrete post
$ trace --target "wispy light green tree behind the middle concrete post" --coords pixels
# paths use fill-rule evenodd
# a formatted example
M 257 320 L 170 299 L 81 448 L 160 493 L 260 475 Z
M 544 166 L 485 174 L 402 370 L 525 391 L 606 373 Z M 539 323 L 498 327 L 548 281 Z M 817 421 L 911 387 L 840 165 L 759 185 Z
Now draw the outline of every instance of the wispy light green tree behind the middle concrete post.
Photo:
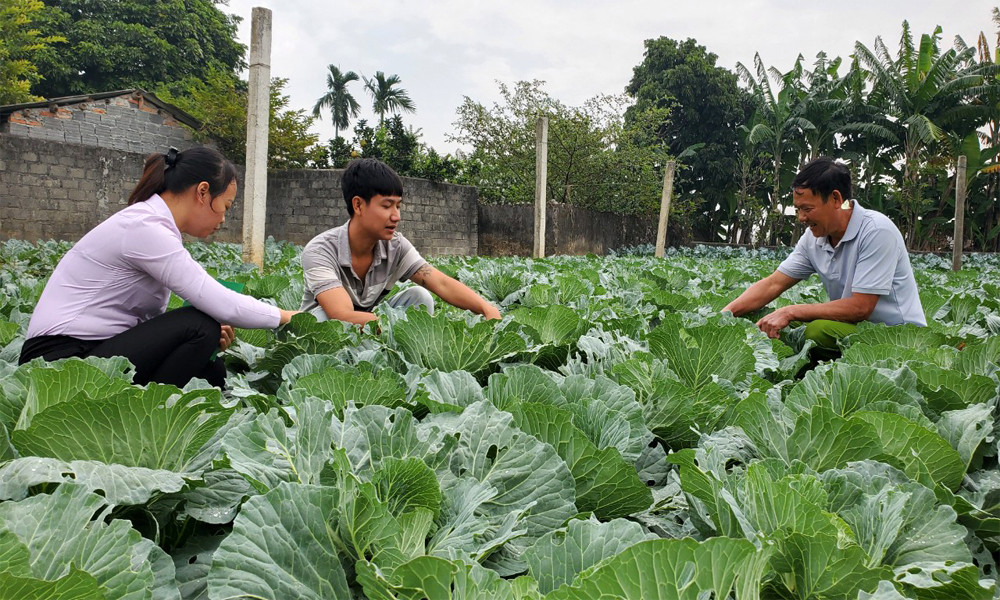
M 534 200 L 535 123 L 545 115 L 547 198 L 628 214 L 648 214 L 659 206 L 666 147 L 634 143 L 641 132 L 625 125 L 625 98 L 598 96 L 569 107 L 549 96 L 541 81 L 499 85 L 502 101 L 492 107 L 465 98 L 458 108 L 457 133 L 449 136 L 473 149 L 466 183 L 477 185 L 485 200 Z

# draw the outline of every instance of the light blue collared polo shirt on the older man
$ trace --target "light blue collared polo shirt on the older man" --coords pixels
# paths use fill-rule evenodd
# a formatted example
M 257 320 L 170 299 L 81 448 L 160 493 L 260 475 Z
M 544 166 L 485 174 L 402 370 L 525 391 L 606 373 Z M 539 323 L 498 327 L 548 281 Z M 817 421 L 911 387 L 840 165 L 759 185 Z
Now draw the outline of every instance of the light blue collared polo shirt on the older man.
M 836 247 L 827 236 L 816 237 L 807 230 L 778 270 L 793 279 L 818 274 L 831 300 L 854 293 L 878 295 L 868 317 L 874 323 L 927 325 L 899 229 L 882 213 L 852 202 L 847 232 Z

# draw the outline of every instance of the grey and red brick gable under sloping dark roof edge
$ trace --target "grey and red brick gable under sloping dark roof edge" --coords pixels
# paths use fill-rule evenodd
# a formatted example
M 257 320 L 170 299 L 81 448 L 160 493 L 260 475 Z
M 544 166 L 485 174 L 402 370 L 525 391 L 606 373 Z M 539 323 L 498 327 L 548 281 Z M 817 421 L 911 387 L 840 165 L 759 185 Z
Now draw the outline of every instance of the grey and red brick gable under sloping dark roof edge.
M 0 134 L 151 154 L 196 145 L 201 122 L 140 89 L 0 106 Z

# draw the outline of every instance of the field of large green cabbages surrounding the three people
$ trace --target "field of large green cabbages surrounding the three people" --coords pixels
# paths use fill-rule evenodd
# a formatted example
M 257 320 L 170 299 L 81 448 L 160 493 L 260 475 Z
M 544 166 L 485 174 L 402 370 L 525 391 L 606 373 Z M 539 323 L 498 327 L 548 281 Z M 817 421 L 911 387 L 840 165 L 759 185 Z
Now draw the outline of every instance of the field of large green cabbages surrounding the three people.
M 804 375 L 718 313 L 783 253 L 439 259 L 503 321 L 299 315 L 220 391 L 18 367 L 68 247 L 0 246 L 0 598 L 998 597 L 997 257 L 914 256 L 930 326 Z M 190 248 L 298 306 L 301 248 Z

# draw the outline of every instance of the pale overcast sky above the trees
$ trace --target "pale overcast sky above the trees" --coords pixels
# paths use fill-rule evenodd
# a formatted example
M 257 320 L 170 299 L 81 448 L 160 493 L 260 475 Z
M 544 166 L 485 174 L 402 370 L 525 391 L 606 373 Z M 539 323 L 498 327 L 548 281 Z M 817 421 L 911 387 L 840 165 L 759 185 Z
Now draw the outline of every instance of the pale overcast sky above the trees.
M 273 12 L 271 75 L 289 80 L 293 108 L 312 110 L 328 64 L 368 77 L 395 73 L 417 108 L 404 121 L 442 152 L 457 148 L 446 136 L 464 96 L 489 105 L 497 80 L 531 79 L 571 106 L 619 94 L 642 62 L 643 41 L 660 36 L 693 37 L 728 69 L 752 66 L 759 52 L 783 71 L 800 53 L 807 63 L 820 51 L 846 61 L 856 41 L 871 47 L 876 36 L 895 51 L 904 19 L 918 40 L 940 25 L 943 47 L 956 35 L 975 44 L 980 31 L 991 48 L 996 42 L 996 4 L 986 0 L 229 0 L 220 8 L 243 17 L 247 46 L 254 6 Z M 352 85 L 362 117 L 373 121 L 369 96 Z M 328 113 L 314 131 L 333 137 Z

